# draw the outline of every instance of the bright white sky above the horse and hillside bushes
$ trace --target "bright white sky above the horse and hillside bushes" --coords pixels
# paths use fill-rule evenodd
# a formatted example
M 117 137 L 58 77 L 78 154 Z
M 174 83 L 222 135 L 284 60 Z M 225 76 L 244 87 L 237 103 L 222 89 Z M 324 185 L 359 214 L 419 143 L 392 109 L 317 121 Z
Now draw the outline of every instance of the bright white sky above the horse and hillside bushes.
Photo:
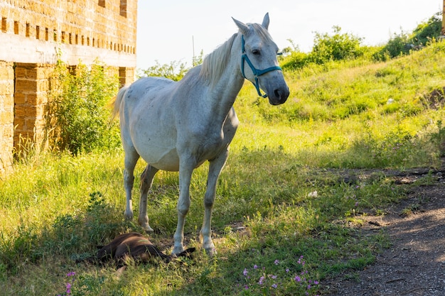
M 315 33 L 331 34 L 333 26 L 363 38 L 363 45 L 380 45 L 411 33 L 442 7 L 443 0 L 139 0 L 136 68 L 173 61 L 191 67 L 193 53 L 207 55 L 237 32 L 232 17 L 262 23 L 269 12 L 278 47 L 293 43 L 307 53 Z

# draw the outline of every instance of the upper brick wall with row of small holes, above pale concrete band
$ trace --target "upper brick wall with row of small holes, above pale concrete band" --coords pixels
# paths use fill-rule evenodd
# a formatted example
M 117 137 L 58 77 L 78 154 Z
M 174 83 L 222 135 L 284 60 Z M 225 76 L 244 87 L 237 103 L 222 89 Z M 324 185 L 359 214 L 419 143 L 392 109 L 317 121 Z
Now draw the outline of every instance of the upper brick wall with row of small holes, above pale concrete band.
M 136 9 L 136 0 L 2 0 L 1 31 L 135 54 Z

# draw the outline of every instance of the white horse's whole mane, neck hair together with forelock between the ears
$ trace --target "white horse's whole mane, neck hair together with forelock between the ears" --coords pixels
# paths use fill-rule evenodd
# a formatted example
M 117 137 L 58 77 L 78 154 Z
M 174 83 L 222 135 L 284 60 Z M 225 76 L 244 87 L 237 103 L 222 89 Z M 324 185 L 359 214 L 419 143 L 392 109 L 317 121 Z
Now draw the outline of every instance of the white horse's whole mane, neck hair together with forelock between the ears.
M 248 23 L 247 25 L 250 26 L 250 32 L 256 32 L 263 40 L 272 40 L 269 31 L 258 23 Z M 230 50 L 232 49 L 233 42 L 238 34 L 242 33 L 233 34 L 232 37 L 225 41 L 225 43 L 204 58 L 200 76 L 205 77 L 205 80 L 208 80 L 210 85 L 213 86 L 220 79 L 221 75 L 223 75 L 225 66 L 227 65 L 227 59 L 230 55 Z

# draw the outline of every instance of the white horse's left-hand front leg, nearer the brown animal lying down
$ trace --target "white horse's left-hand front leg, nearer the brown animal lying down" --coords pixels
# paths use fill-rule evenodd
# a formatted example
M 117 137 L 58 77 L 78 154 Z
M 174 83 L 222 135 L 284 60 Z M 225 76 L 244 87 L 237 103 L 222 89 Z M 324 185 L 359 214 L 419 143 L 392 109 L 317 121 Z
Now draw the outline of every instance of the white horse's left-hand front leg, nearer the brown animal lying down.
M 179 165 L 179 199 L 178 206 L 178 225 L 173 236 L 174 246 L 173 254 L 178 254 L 184 251 L 184 224 L 186 222 L 186 215 L 190 208 L 190 182 L 196 163 L 191 158 L 181 161 Z

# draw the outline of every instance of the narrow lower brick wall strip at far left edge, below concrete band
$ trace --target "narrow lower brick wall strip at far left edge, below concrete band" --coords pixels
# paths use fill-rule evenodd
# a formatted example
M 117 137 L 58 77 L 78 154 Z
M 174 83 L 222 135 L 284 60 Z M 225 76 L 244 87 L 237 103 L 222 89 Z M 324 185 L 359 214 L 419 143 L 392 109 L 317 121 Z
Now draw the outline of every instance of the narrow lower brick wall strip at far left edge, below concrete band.
M 14 63 L 0 61 L 0 175 L 11 169 L 14 148 Z

